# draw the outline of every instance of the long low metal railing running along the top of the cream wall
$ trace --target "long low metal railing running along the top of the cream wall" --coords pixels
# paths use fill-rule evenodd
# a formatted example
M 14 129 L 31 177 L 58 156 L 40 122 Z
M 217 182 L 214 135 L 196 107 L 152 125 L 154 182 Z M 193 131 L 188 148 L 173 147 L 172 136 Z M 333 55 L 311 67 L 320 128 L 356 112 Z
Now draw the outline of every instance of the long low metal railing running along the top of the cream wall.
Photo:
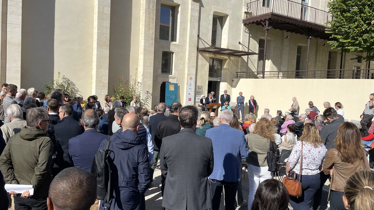
M 235 72 L 236 79 L 257 79 L 262 72 Z M 260 75 L 261 74 L 261 75 Z M 374 79 L 374 69 L 334 69 L 334 70 L 305 70 L 300 71 L 265 71 L 265 79 Z

